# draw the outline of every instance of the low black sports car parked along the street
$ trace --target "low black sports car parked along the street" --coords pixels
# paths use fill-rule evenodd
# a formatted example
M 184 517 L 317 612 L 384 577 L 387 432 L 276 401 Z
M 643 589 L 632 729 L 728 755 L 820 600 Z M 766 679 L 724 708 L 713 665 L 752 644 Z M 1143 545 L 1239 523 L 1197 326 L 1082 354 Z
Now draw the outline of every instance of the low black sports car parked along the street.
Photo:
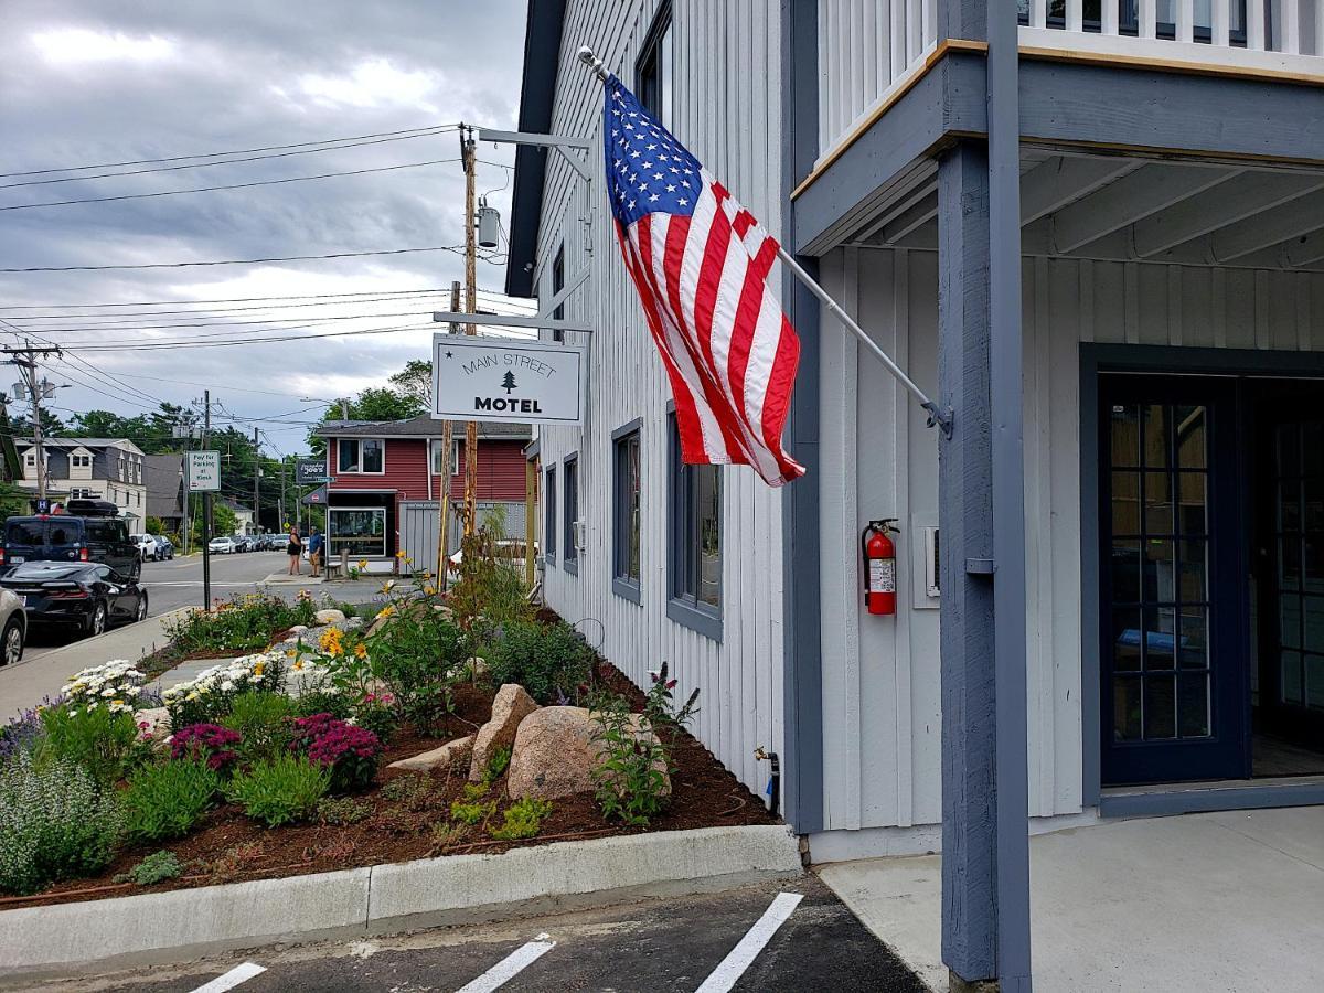
M 23 563 L 0 585 L 23 600 L 33 625 L 101 634 L 111 625 L 147 617 L 147 591 L 132 576 L 101 563 Z

